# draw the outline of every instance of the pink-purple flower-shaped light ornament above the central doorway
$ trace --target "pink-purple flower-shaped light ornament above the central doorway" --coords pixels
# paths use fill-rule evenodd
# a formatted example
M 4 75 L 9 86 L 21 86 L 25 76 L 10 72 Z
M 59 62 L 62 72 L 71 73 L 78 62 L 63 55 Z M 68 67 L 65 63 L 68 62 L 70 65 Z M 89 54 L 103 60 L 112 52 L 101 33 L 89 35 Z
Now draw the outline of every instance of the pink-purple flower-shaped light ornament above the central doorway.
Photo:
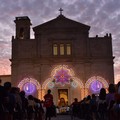
M 71 76 L 68 73 L 68 70 L 60 69 L 56 72 L 56 75 L 54 76 L 56 83 L 61 83 L 62 85 L 65 85 L 66 83 L 70 82 Z

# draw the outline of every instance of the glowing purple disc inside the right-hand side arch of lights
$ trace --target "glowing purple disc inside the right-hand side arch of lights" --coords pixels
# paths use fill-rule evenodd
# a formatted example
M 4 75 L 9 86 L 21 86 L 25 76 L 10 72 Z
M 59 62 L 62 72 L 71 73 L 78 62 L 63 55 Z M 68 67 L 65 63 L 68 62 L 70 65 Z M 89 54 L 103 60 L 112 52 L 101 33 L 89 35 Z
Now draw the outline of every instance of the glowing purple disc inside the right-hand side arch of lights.
M 90 88 L 94 93 L 99 93 L 102 87 L 103 87 L 102 83 L 97 80 L 93 81 L 90 85 Z

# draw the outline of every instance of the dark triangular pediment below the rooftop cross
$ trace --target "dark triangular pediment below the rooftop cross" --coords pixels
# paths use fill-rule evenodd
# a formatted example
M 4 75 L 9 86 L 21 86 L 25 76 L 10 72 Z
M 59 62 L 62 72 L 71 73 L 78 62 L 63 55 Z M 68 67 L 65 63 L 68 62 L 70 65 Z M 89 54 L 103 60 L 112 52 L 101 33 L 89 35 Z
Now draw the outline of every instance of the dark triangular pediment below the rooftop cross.
M 63 15 L 59 15 L 55 19 L 52 19 L 48 22 L 45 22 L 41 25 L 34 27 L 33 30 L 36 32 L 38 30 L 44 30 L 44 29 L 63 29 L 63 28 L 64 29 L 76 28 L 76 29 L 81 29 L 82 31 L 88 31 L 90 29 L 90 26 L 66 18 Z

